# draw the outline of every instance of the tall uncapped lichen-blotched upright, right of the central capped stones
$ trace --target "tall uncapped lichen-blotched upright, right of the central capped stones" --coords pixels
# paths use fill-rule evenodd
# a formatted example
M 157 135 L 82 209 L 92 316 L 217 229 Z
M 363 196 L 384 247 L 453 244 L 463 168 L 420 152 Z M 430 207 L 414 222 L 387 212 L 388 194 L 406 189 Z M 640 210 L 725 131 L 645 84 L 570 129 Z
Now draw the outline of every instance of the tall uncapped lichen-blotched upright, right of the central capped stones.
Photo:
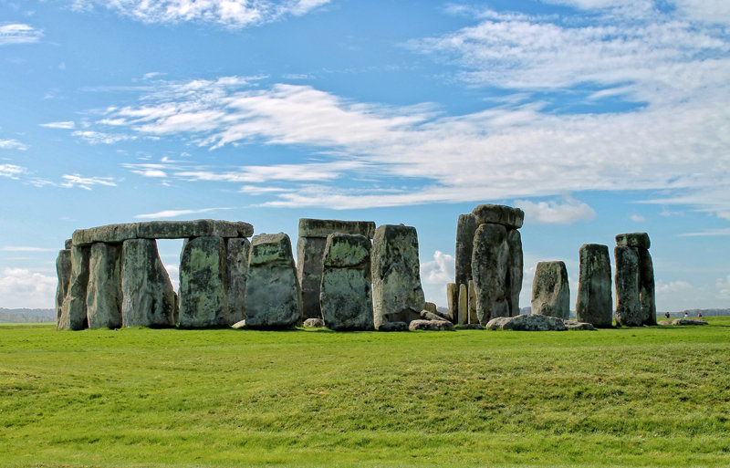
M 375 328 L 385 322 L 421 319 L 425 303 L 418 259 L 418 234 L 412 226 L 384 224 L 372 245 Z

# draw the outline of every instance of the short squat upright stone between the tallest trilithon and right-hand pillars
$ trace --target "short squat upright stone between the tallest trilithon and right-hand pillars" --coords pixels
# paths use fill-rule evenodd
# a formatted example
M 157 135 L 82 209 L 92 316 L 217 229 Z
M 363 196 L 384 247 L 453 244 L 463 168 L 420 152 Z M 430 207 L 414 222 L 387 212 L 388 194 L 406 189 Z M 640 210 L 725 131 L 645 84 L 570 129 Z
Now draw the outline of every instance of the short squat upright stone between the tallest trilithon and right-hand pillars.
M 568 269 L 564 262 L 538 262 L 532 282 L 532 313 L 570 317 Z

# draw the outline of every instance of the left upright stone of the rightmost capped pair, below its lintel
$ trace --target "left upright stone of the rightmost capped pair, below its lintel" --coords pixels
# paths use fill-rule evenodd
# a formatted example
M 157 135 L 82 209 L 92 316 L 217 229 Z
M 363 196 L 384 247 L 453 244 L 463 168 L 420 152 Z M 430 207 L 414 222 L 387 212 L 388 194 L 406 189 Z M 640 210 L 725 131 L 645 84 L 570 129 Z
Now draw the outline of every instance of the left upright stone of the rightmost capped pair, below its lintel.
M 639 249 L 617 245 L 613 256 L 616 259 L 616 323 L 639 327 L 644 321 L 639 300 Z

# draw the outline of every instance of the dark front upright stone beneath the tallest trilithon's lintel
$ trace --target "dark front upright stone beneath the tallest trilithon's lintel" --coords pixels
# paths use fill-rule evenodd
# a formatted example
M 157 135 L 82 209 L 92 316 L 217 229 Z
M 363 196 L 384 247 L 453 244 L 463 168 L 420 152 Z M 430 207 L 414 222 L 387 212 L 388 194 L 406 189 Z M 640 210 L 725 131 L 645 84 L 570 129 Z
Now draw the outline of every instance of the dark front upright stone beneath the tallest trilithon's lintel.
M 509 264 L 507 231 L 502 224 L 482 224 L 474 234 L 472 276 L 479 323 L 486 325 L 495 317 L 509 317 L 506 294 Z

